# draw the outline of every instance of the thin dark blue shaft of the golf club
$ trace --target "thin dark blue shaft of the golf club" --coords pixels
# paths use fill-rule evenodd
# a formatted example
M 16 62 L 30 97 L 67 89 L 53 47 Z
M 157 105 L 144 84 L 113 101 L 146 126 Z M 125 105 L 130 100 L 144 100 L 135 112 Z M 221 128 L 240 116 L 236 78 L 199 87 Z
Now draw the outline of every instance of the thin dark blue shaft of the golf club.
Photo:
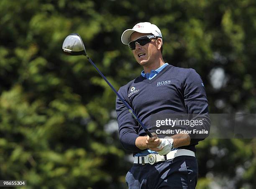
M 88 57 L 86 55 L 87 59 L 89 60 L 89 62 L 93 65 L 93 67 L 95 67 L 95 69 L 97 70 L 97 72 L 101 75 L 101 77 L 105 80 L 105 82 L 108 83 L 108 85 L 110 86 L 110 88 L 115 92 L 115 94 L 118 96 L 118 98 L 123 102 L 123 104 L 125 105 L 125 107 L 127 107 L 128 111 L 133 115 L 133 117 L 136 119 L 136 121 L 141 125 L 141 127 L 144 129 L 144 131 L 146 132 L 146 134 L 149 137 L 153 137 L 153 135 L 151 134 L 151 132 L 145 127 L 145 125 L 141 122 L 141 120 L 138 118 L 138 116 L 134 113 L 133 109 L 129 106 L 129 104 L 127 104 L 125 102 L 125 100 L 120 96 L 120 94 L 118 94 L 118 92 L 115 90 L 115 88 L 111 85 L 110 82 L 108 82 L 107 78 L 100 72 L 100 70 L 97 68 L 97 66 L 92 62 L 92 60 L 90 59 L 90 57 Z

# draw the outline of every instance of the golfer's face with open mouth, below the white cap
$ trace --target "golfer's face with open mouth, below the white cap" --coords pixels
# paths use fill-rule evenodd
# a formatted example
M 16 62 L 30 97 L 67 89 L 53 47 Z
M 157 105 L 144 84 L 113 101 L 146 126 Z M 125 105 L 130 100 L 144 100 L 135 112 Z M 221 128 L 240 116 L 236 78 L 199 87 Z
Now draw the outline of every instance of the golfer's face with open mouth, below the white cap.
M 152 34 L 133 32 L 130 37 L 130 40 L 133 41 L 145 35 L 152 35 Z M 157 56 L 158 49 L 156 45 L 157 43 L 155 39 L 152 39 L 151 42 L 147 43 L 144 46 L 136 43 L 136 48 L 135 50 L 133 50 L 133 56 L 135 57 L 136 61 L 142 66 L 148 66 L 154 63 L 158 58 Z M 144 53 L 145 55 L 140 56 L 142 53 Z

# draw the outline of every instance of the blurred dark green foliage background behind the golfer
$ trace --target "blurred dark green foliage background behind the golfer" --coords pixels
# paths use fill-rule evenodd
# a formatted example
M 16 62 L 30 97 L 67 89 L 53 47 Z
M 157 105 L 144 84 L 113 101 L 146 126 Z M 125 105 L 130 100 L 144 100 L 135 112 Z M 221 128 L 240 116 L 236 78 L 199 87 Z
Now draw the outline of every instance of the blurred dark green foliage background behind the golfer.
M 0 0 L 0 179 L 26 188 L 125 189 L 115 94 L 62 42 L 81 35 L 116 90 L 142 71 L 122 32 L 156 24 L 166 62 L 194 68 L 210 113 L 256 112 L 255 0 Z M 197 189 L 256 188 L 255 139 L 205 139 Z

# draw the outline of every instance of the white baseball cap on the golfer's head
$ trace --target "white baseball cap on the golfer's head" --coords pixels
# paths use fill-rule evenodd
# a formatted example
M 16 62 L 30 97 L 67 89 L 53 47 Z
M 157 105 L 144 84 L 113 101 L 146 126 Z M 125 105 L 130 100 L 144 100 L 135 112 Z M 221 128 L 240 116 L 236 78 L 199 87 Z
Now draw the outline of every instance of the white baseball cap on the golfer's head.
M 133 29 L 128 29 L 123 32 L 121 37 L 123 44 L 128 45 L 128 43 L 131 41 L 130 36 L 133 32 L 152 33 L 153 35 L 162 38 L 161 31 L 156 25 L 151 24 L 150 22 L 140 22 L 133 26 Z

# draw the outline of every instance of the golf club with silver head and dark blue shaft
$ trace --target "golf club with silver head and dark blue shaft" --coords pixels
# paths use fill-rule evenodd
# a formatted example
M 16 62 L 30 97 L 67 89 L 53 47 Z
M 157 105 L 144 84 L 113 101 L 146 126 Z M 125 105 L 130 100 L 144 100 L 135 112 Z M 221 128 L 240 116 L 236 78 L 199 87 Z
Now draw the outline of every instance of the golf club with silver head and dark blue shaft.
M 141 125 L 141 127 L 144 129 L 146 134 L 149 137 L 153 137 L 151 132 L 145 127 L 145 125 L 141 122 L 141 120 L 138 118 L 138 116 L 134 113 L 133 109 L 124 101 L 124 99 L 118 94 L 118 92 L 115 90 L 115 88 L 108 82 L 107 78 L 100 72 L 100 70 L 97 68 L 97 66 L 92 62 L 90 57 L 87 55 L 84 43 L 82 41 L 82 38 L 78 33 L 71 33 L 69 34 L 66 39 L 63 42 L 62 50 L 66 55 L 84 55 L 87 57 L 89 62 L 95 67 L 97 72 L 101 75 L 101 77 L 105 80 L 105 82 L 108 83 L 108 85 L 111 87 L 111 89 L 115 92 L 115 94 L 118 96 L 118 98 L 123 102 L 125 107 L 128 109 L 128 111 L 133 115 L 133 117 L 137 120 L 137 122 Z

